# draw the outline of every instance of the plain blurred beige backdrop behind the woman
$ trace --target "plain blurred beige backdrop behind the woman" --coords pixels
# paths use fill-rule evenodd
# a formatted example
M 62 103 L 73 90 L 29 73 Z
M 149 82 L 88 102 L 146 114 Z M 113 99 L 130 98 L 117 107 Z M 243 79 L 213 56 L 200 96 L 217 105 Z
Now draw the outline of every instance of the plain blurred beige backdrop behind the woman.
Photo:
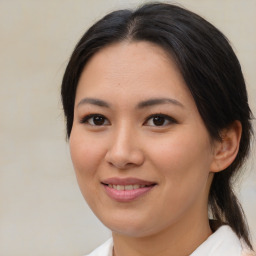
M 1 256 L 79 256 L 110 236 L 76 184 L 60 84 L 85 30 L 109 11 L 142 2 L 0 0 Z M 202 15 L 230 39 L 256 115 L 256 0 L 176 3 Z M 254 146 L 242 186 L 237 187 L 254 245 L 255 156 Z

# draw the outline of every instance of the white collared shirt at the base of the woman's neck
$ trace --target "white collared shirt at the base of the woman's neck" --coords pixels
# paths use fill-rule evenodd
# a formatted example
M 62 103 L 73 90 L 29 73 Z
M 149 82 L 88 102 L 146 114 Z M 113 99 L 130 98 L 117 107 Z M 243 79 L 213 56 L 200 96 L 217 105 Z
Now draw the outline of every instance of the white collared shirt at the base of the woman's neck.
M 112 256 L 113 239 L 110 238 L 87 256 Z M 242 243 L 227 226 L 221 226 L 208 237 L 190 256 L 246 256 L 253 255 L 243 249 Z M 85 255 L 86 256 L 86 255 Z

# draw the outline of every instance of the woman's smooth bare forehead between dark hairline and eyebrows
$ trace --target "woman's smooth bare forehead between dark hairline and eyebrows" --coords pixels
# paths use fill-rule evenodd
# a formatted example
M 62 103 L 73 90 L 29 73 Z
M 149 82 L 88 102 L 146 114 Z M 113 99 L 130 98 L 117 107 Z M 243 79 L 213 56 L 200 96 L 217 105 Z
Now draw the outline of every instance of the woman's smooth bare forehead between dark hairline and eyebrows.
M 144 41 L 112 44 L 92 56 L 79 79 L 76 101 L 94 94 L 120 99 L 169 95 L 193 101 L 171 56 Z

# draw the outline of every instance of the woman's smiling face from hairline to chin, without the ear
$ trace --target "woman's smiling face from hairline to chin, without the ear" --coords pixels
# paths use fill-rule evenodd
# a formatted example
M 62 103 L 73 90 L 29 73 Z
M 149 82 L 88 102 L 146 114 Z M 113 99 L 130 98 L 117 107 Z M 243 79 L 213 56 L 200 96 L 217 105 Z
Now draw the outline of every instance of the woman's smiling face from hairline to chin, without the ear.
M 158 46 L 108 46 L 85 66 L 70 151 L 81 192 L 112 231 L 142 237 L 207 212 L 213 148 Z

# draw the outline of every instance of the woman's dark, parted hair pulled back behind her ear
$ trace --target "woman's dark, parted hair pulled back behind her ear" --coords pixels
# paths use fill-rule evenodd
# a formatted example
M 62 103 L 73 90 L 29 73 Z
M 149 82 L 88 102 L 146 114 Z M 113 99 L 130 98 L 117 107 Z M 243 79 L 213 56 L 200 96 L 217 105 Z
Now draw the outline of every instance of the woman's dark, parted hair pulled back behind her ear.
M 242 124 L 234 162 L 214 175 L 209 194 L 213 218 L 231 226 L 252 249 L 246 219 L 233 192 L 233 177 L 248 155 L 252 114 L 239 61 L 225 36 L 184 8 L 150 3 L 112 12 L 95 23 L 76 45 L 62 81 L 67 136 L 73 124 L 76 88 L 87 61 L 100 49 L 120 41 L 149 41 L 175 60 L 212 139 L 235 120 Z

